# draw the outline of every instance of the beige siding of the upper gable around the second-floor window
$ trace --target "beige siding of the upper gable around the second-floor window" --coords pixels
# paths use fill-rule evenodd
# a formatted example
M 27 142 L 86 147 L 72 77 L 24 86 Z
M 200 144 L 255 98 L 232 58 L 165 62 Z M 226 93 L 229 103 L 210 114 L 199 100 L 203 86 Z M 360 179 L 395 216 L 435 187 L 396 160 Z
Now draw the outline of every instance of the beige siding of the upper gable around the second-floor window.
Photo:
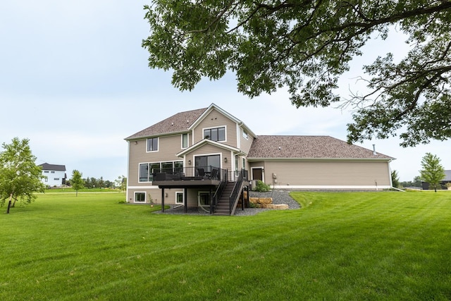
M 204 139 L 205 128 L 226 127 L 226 144 L 237 147 L 237 127 L 236 123 L 224 116 L 222 113 L 213 109 L 205 118 L 194 128 L 194 144 Z M 221 142 L 221 141 L 220 141 Z

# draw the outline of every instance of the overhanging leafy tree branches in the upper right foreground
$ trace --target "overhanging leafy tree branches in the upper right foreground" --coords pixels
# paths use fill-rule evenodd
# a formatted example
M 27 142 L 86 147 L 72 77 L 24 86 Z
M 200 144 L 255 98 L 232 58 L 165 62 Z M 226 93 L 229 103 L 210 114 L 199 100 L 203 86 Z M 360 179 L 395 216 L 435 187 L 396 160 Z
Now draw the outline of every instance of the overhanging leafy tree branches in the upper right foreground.
M 348 142 L 400 134 L 407 147 L 451 137 L 451 1 L 151 1 L 142 46 L 149 67 L 173 70 L 180 90 L 232 70 L 249 97 L 287 87 L 297 107 L 351 106 Z M 365 66 L 369 92 L 342 102 L 340 75 L 393 28 L 409 53 Z

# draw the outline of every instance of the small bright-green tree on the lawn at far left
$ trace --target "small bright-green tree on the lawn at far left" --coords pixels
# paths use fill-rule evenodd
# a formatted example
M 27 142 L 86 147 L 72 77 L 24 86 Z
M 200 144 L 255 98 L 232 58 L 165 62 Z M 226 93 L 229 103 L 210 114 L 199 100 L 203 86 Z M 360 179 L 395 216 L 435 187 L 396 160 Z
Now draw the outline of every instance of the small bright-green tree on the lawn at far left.
M 3 143 L 4 151 L 0 152 L 0 204 L 8 199 L 9 214 L 17 201 L 27 204 L 36 199 L 35 192 L 43 192 L 42 168 L 35 164 L 29 140 L 13 138 L 11 144 Z

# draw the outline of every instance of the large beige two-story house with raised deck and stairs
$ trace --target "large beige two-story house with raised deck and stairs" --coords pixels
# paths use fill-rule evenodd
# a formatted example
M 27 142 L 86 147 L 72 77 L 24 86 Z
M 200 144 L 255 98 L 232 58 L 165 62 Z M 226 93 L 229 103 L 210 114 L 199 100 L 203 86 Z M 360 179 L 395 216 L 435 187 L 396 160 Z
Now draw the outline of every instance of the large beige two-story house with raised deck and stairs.
M 392 186 L 390 156 L 329 136 L 257 136 L 216 104 L 176 113 L 125 140 L 133 203 L 233 214 L 257 180 L 292 190 Z

